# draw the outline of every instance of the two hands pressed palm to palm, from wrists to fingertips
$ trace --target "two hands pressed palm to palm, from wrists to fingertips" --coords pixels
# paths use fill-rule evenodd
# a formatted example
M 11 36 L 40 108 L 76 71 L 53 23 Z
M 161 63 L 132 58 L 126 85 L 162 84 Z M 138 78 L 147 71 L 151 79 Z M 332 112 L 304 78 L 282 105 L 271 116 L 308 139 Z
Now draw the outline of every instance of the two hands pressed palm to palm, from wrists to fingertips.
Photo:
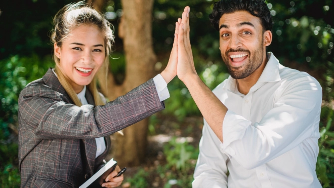
M 175 37 L 170 60 L 161 72 L 161 76 L 166 83 L 169 83 L 176 75 L 184 83 L 191 82 L 194 77 L 198 77 L 189 39 L 189 13 L 190 7 L 187 6 L 182 13 L 182 19 L 179 18 L 175 25 Z

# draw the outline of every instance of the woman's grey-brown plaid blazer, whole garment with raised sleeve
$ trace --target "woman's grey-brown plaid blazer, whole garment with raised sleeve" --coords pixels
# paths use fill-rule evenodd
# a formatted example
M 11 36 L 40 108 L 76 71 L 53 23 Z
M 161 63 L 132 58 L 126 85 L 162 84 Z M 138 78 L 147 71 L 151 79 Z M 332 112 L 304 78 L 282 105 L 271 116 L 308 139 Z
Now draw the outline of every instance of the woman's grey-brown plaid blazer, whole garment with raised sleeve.
M 124 96 L 78 107 L 50 68 L 19 96 L 19 169 L 21 187 L 78 187 L 106 156 L 95 159 L 95 138 L 108 136 L 164 109 L 153 80 Z

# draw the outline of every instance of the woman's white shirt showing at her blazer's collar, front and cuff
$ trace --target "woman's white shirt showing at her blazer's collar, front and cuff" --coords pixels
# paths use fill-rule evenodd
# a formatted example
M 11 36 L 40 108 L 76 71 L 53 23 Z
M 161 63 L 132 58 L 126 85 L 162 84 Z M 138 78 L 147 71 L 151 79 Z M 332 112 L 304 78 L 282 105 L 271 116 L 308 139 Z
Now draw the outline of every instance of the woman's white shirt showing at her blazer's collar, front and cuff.
M 56 72 L 54 71 L 54 68 L 52 69 L 52 71 L 56 75 L 56 77 L 58 78 Z M 156 91 L 158 93 L 160 102 L 170 98 L 170 93 L 169 93 L 168 88 L 167 88 L 167 83 L 164 81 L 161 74 L 157 74 L 157 76 L 155 76 L 153 78 L 153 82 L 155 84 L 155 88 L 156 88 Z M 85 94 L 86 94 L 86 86 L 84 86 L 84 89 L 82 89 L 82 91 L 80 91 L 80 93 L 77 94 L 77 96 L 78 96 L 82 105 L 88 104 L 87 99 L 85 97 Z M 103 152 L 106 150 L 106 143 L 104 141 L 104 137 L 95 138 L 95 141 L 96 141 L 96 155 L 95 155 L 95 158 L 97 158 L 101 154 L 103 154 Z

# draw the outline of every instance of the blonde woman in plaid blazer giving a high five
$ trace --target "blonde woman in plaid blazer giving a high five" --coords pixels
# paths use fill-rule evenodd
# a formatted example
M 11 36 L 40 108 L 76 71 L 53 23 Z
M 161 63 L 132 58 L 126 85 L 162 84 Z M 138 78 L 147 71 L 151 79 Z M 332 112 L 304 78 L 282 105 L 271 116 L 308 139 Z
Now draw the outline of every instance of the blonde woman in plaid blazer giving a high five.
M 109 63 L 109 22 L 82 2 L 67 5 L 54 18 L 51 40 L 55 68 L 19 96 L 21 187 L 80 186 L 106 157 L 110 140 L 104 136 L 164 109 L 159 93 L 165 90 L 156 88 L 176 76 L 173 48 L 161 74 L 105 104 L 95 76 Z M 119 171 L 117 166 L 102 186 L 120 185 L 123 176 L 112 178 Z

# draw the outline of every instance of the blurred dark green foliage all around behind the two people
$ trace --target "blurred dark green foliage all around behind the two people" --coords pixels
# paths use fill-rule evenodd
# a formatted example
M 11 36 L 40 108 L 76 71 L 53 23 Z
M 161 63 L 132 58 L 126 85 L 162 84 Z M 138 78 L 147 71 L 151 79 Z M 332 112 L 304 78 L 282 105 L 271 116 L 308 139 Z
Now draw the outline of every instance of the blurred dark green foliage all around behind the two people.
M 17 99 L 29 82 L 41 78 L 48 67 L 53 67 L 52 45 L 49 31 L 52 17 L 69 0 L 26 0 L 0 2 L 0 184 L 2 187 L 19 187 L 17 145 Z M 191 43 L 195 66 L 201 79 L 211 89 L 228 77 L 221 60 L 218 32 L 208 21 L 216 0 L 156 0 L 154 3 L 153 42 L 158 62 L 156 72 L 168 61 L 173 43 L 174 25 L 185 6 L 191 7 Z M 323 187 L 334 187 L 334 5 L 331 0 L 267 0 L 275 26 L 273 42 L 268 48 L 284 66 L 307 71 L 323 88 L 319 147 L 316 171 Z M 117 36 L 122 15 L 119 0 L 106 0 L 104 13 L 114 25 L 115 46 L 110 69 L 116 80 L 124 78 L 125 59 L 122 41 Z M 159 134 L 160 119 L 175 119 L 182 129 L 189 118 L 201 121 L 200 112 L 182 82 L 174 79 L 169 84 L 173 100 L 166 100 L 166 109 L 152 116 L 149 125 L 151 136 Z M 185 132 L 200 129 L 185 125 Z M 190 127 L 190 128 L 189 128 Z M 192 172 L 198 155 L 198 145 L 182 140 L 178 134 L 163 144 L 158 157 L 164 163 L 154 168 L 136 171 L 126 181 L 131 187 L 154 186 L 149 176 L 158 178 L 158 186 L 190 187 Z M 184 138 L 184 137 L 183 137 Z M 180 141 L 181 140 L 181 141 Z M 156 180 L 154 180 L 156 181 Z M 154 182 L 153 182 L 154 183 Z

